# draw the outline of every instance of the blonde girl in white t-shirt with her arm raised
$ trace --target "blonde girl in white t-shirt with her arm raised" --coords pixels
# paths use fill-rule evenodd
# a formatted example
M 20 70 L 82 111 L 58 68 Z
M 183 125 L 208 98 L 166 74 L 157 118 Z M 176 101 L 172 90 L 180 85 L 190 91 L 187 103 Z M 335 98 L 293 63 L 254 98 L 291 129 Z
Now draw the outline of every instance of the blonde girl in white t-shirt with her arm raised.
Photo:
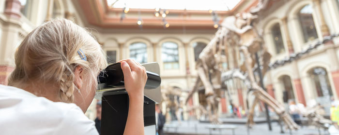
M 120 61 L 130 97 L 124 135 L 142 135 L 146 70 Z M 101 46 L 84 28 L 57 19 L 35 28 L 15 53 L 8 85 L 0 85 L 1 135 L 98 135 L 84 112 L 107 67 Z

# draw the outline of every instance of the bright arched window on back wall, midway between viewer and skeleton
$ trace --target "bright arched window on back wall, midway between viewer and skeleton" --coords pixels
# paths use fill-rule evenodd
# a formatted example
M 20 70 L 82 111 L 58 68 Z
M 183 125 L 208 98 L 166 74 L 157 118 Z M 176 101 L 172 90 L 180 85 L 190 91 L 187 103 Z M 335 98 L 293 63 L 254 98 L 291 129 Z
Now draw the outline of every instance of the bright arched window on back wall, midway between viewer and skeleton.
M 161 58 L 164 63 L 164 69 L 179 69 L 178 44 L 174 42 L 164 42 L 161 48 Z

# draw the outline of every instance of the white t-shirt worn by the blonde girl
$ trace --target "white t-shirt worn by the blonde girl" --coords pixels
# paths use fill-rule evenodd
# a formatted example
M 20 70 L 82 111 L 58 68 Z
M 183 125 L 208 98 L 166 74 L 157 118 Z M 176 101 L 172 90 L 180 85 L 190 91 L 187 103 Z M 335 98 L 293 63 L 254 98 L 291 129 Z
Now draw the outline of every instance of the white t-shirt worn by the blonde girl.
M 98 135 L 95 124 L 75 104 L 53 102 L 0 85 L 1 135 Z

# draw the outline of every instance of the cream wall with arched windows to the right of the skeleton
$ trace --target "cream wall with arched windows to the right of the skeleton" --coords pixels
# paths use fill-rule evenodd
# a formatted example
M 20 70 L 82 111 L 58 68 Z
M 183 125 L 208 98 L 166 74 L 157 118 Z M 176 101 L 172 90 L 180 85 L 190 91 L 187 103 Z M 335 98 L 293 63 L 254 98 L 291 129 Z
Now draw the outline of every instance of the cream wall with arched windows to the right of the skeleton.
M 277 8 L 271 14 L 268 14 L 259 23 L 259 29 L 264 31 L 264 40 L 266 46 L 268 47 L 269 52 L 273 55 L 271 62 L 276 60 L 282 60 L 285 57 L 289 56 L 287 40 L 286 40 L 286 32 L 289 32 L 290 38 L 293 43 L 293 49 L 295 53 L 299 53 L 302 50 L 308 48 L 309 44 L 315 43 L 318 40 L 323 40 L 323 33 L 321 31 L 321 17 L 320 11 L 317 10 L 316 5 L 313 2 L 314 0 L 289 0 L 286 1 L 283 5 Z M 339 9 L 336 0 L 321 0 L 321 9 L 324 14 L 324 20 L 326 25 L 328 26 L 330 33 L 335 34 L 339 33 Z M 310 42 L 303 42 L 303 34 L 298 22 L 298 18 L 296 17 L 296 13 L 306 4 L 310 4 L 313 9 L 313 19 L 315 23 L 315 27 L 318 33 L 319 39 L 313 40 Z M 285 31 L 282 24 L 282 18 L 287 17 L 288 23 L 288 31 Z M 270 33 L 270 27 L 272 25 L 279 23 L 280 30 L 282 33 L 282 38 L 285 46 L 285 53 L 282 54 L 275 54 L 275 46 L 273 43 L 273 38 Z M 293 91 L 295 98 L 297 99 L 298 96 L 296 93 L 296 88 L 294 81 L 295 79 L 301 79 L 304 96 L 306 102 L 308 103 L 309 100 L 317 98 L 315 93 L 315 88 L 313 81 L 308 75 L 308 70 L 313 67 L 324 67 L 327 71 L 328 78 L 331 84 L 331 89 L 333 92 L 333 96 L 338 99 L 337 92 L 335 89 L 332 72 L 338 71 L 338 47 L 339 42 L 338 38 L 335 39 L 334 45 L 323 45 L 320 46 L 315 51 L 304 55 L 297 61 L 292 63 L 286 64 L 285 66 L 278 67 L 276 69 L 270 70 L 268 74 L 266 74 L 265 78 L 271 78 L 272 82 L 266 82 L 265 85 L 273 84 L 275 89 L 275 97 L 278 101 L 282 101 L 282 91 L 284 90 L 283 84 L 278 80 L 279 77 L 282 75 L 288 75 L 291 77 Z M 298 100 L 297 100 L 298 101 Z

